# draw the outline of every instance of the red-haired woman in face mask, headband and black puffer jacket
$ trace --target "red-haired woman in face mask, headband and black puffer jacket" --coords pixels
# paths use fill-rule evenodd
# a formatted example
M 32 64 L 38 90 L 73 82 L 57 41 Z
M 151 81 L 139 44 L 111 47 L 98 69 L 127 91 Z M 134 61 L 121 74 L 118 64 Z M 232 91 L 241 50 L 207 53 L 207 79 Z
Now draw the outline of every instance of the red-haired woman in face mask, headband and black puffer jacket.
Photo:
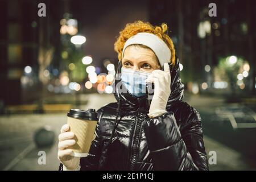
M 74 134 L 59 135 L 60 170 L 208 170 L 200 114 L 183 102 L 179 60 L 167 25 L 137 21 L 119 32 L 114 96 L 98 110 L 86 158 L 74 158 Z M 162 69 L 162 70 L 161 70 Z M 147 104 L 146 83 L 154 84 Z M 117 86 L 121 85 L 121 86 Z M 127 92 L 124 92 L 127 91 Z

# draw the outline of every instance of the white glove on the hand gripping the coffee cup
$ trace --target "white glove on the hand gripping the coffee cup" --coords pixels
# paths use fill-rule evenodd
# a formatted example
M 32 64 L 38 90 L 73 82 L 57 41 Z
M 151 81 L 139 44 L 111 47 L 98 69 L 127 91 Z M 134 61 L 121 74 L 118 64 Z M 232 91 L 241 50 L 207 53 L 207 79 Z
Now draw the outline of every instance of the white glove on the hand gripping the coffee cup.
M 64 171 L 79 170 L 80 169 L 80 158 L 71 156 L 72 149 L 65 149 L 69 146 L 73 146 L 76 140 L 73 139 L 75 134 L 72 132 L 67 132 L 69 130 L 69 125 L 63 125 L 60 129 L 59 135 L 59 151 L 58 159 L 63 164 Z

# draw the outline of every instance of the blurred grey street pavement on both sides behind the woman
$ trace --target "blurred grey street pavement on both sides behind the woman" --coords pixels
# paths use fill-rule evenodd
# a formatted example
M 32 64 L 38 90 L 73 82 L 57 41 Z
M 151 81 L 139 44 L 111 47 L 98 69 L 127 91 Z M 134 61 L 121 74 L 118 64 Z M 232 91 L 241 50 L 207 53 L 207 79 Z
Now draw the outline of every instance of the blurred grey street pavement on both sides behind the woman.
M 109 102 L 115 102 L 113 94 L 93 93 L 81 97 L 84 100 L 88 99 L 89 102 L 81 105 L 80 109 L 98 109 Z M 256 127 L 234 130 L 229 121 L 214 121 L 212 119 L 216 117 L 214 110 L 224 105 L 220 97 L 193 96 L 185 93 L 185 101 L 200 111 L 207 154 L 210 151 L 216 151 L 217 164 L 209 165 L 210 170 L 256 169 L 256 160 L 253 155 L 256 152 Z M 209 105 L 210 107 L 206 107 Z M 59 167 L 57 135 L 60 127 L 66 122 L 65 113 L 1 116 L 0 169 L 57 170 Z M 51 126 L 55 132 L 55 143 L 51 147 L 37 148 L 34 144 L 34 133 L 46 125 Z M 46 164 L 38 164 L 39 151 L 46 152 Z M 210 155 L 208 159 L 209 157 Z

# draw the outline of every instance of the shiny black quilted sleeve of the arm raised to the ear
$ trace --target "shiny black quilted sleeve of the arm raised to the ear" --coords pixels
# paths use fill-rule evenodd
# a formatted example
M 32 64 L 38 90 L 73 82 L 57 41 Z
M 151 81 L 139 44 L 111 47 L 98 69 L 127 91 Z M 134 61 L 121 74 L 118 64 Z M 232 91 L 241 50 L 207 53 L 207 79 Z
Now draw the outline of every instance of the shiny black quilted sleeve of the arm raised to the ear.
M 192 115 L 180 129 L 172 111 L 143 123 L 154 170 L 208 170 L 199 113 Z

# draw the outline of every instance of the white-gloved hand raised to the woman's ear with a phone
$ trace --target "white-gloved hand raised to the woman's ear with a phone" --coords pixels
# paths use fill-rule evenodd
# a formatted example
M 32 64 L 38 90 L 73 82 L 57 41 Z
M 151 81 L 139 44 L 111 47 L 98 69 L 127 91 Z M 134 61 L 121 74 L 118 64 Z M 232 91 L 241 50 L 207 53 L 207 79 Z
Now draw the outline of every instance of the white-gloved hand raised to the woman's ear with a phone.
M 164 71 L 160 69 L 152 71 L 146 82 L 152 82 L 155 85 L 148 117 L 154 118 L 166 113 L 167 101 L 171 94 L 171 73 L 168 63 L 164 63 Z

